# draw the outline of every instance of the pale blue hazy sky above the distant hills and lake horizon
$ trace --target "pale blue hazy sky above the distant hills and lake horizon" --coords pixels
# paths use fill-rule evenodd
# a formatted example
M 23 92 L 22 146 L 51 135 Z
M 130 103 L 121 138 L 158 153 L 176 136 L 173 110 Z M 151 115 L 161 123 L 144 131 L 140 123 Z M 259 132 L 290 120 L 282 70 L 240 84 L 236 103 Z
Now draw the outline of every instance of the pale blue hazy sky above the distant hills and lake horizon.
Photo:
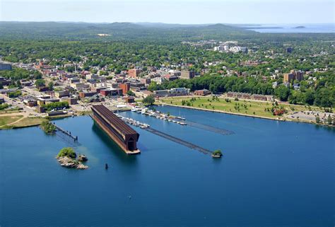
M 335 23 L 333 0 L 0 0 L 0 21 Z

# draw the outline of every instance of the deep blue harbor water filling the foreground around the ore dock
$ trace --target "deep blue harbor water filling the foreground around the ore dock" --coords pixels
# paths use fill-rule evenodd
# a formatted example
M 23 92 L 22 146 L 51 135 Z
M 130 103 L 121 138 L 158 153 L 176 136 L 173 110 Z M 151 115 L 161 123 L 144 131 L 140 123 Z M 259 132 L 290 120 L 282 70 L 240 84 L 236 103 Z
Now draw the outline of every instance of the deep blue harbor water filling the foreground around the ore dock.
M 89 158 L 88 170 L 70 170 L 54 158 L 73 145 L 66 138 L 2 130 L 0 226 L 334 226 L 334 129 L 157 108 L 234 134 L 122 115 L 223 158 L 139 128 L 141 155 L 127 156 L 84 116 L 55 121 Z

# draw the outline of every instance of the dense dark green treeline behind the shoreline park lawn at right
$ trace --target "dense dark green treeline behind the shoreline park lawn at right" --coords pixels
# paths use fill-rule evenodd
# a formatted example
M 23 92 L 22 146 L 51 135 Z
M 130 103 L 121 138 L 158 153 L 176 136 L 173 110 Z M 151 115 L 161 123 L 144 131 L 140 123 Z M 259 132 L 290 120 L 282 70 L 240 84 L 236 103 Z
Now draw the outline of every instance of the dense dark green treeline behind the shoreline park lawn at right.
M 334 75 L 334 74 L 333 74 Z M 191 91 L 208 89 L 212 93 L 226 93 L 229 91 L 274 95 L 282 101 L 293 104 L 317 105 L 319 107 L 335 107 L 335 76 L 324 76 L 315 86 L 302 87 L 300 91 L 287 88 L 283 84 L 272 87 L 269 81 L 261 78 L 237 76 L 201 76 L 190 80 L 178 79 L 165 81 L 162 84 L 155 82 L 148 86 L 148 90 L 157 91 L 170 88 L 190 88 Z

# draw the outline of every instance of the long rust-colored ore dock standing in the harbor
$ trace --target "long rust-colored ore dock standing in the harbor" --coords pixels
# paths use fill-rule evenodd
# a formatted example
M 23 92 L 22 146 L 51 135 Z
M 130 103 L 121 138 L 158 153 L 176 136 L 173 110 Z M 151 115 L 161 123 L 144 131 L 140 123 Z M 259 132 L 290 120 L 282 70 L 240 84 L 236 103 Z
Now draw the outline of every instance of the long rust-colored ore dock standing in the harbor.
M 93 105 L 93 120 L 114 140 L 127 154 L 140 153 L 137 149 L 139 134 L 124 123 L 104 105 Z

